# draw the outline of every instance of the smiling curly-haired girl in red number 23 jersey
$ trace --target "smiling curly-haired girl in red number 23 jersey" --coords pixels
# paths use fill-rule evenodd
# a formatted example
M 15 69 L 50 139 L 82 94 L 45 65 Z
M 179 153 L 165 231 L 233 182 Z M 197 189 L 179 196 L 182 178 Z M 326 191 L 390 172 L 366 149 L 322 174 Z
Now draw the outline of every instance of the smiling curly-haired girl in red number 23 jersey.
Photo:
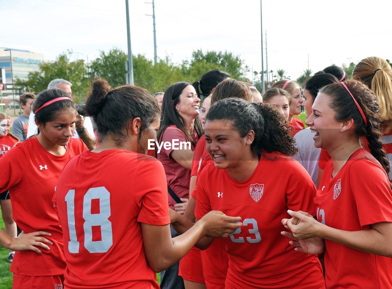
M 287 208 L 305 206 L 316 215 L 314 184 L 289 157 L 296 148 L 282 122 L 271 105 L 238 98 L 218 101 L 207 114 L 205 139 L 214 164 L 198 179 L 196 219 L 222 210 L 243 220 L 225 240 L 226 289 L 325 288 L 317 257 L 295 255 L 280 234 Z M 204 241 L 207 247 L 212 238 Z

